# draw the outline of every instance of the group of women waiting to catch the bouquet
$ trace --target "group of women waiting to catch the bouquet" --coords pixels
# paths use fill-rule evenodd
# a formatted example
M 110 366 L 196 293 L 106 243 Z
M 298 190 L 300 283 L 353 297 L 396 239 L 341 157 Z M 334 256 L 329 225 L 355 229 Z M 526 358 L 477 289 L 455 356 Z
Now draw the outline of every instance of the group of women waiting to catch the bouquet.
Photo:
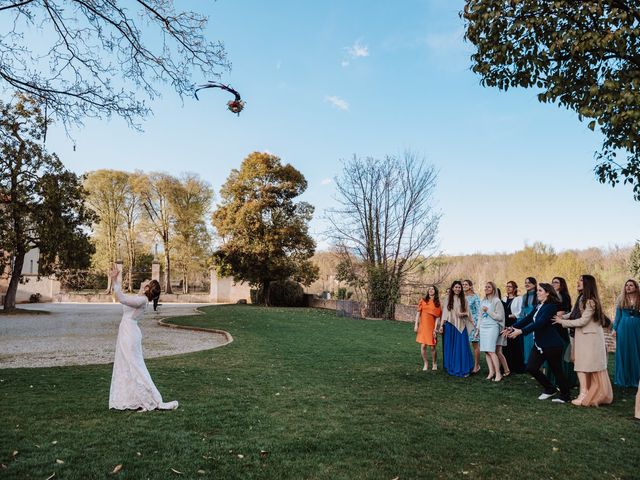
M 524 288 L 518 295 L 518 285 L 509 281 L 506 296 L 501 298 L 495 283 L 486 282 L 481 299 L 471 280 L 456 280 L 441 300 L 438 288 L 429 287 L 418 304 L 414 326 L 423 370 L 429 370 L 429 356 L 431 370 L 438 369 L 440 335 L 442 365 L 449 375 L 478 373 L 480 353 L 484 352 L 487 380 L 500 382 L 512 373 L 526 372 L 543 387 L 540 400 L 553 397 L 558 403 L 605 405 L 613 401 L 604 336 L 605 329 L 611 328 L 617 343 L 615 383 L 638 388 L 640 288 L 635 280 L 625 283 L 616 301 L 613 325 L 603 312 L 597 282 L 591 275 L 578 279 L 578 298 L 573 304 L 562 277 L 554 277 L 551 283 L 527 277 Z M 580 391 L 571 400 L 576 376 Z M 640 390 L 635 416 L 640 419 Z

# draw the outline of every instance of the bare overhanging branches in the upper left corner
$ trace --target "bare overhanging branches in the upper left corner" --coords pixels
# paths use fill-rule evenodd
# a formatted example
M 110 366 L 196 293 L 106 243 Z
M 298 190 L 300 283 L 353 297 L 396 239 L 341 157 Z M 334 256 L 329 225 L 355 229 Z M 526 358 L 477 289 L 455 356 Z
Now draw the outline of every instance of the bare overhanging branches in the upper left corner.
M 191 95 L 194 73 L 229 67 L 205 37 L 207 17 L 174 3 L 0 0 L 0 89 L 31 95 L 65 124 L 117 115 L 136 125 L 160 85 Z

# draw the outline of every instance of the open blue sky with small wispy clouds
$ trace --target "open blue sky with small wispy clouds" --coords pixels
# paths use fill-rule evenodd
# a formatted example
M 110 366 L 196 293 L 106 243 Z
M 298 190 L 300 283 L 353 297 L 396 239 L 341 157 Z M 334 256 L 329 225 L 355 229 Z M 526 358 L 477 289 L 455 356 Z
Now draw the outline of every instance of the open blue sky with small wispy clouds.
M 269 151 L 309 182 L 312 230 L 335 205 L 341 159 L 411 150 L 439 170 L 445 253 L 509 252 L 543 241 L 557 250 L 631 245 L 640 204 L 593 174 L 599 134 L 538 103 L 535 91 L 483 88 L 470 71 L 459 0 L 180 2 L 211 16 L 231 72 L 224 92 L 181 101 L 169 89 L 144 132 L 123 121 L 60 129 L 48 146 L 76 172 L 98 168 L 197 172 L 216 191 L 252 151 Z M 208 79 L 198 78 L 197 81 Z

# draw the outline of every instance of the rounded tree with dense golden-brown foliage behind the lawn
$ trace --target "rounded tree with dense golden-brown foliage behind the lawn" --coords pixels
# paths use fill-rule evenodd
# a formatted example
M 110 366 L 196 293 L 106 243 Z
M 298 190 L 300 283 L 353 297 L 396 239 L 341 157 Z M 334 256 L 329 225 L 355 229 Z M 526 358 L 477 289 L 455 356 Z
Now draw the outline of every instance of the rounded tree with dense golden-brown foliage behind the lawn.
M 259 287 L 267 303 L 271 282 L 292 279 L 310 285 L 318 276 L 309 260 L 315 251 L 308 233 L 314 209 L 295 202 L 306 188 L 294 167 L 254 152 L 231 171 L 220 190 L 222 202 L 213 213 L 223 242 L 218 260 L 236 281 Z

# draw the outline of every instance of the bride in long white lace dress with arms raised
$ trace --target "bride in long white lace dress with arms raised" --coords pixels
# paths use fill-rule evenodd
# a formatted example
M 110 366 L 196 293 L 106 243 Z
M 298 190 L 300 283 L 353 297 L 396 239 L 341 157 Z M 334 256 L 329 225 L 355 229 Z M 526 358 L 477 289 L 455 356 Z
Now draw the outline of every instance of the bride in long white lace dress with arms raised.
M 153 384 L 149 370 L 142 358 L 142 332 L 138 320 L 144 315 L 147 303 L 160 293 L 160 284 L 152 280 L 142 295 L 125 295 L 118 281 L 118 268 L 110 273 L 113 292 L 122 304 L 122 320 L 116 341 L 116 357 L 113 362 L 109 408 L 116 410 L 174 410 L 178 402 L 163 402 Z

